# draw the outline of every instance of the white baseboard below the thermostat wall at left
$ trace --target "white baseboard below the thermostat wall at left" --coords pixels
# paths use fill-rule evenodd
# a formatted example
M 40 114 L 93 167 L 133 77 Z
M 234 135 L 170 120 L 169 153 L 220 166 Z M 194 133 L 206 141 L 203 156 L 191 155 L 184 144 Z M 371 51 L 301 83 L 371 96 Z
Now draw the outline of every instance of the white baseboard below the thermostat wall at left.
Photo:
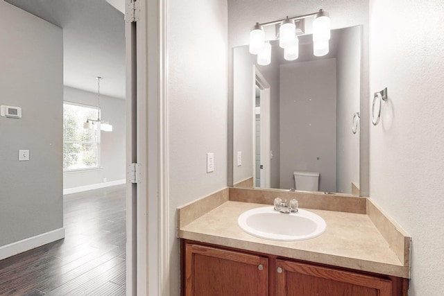
M 17 255 L 28 250 L 33 250 L 35 247 L 46 245 L 46 243 L 52 243 L 65 237 L 65 228 L 59 228 L 52 230 L 51 232 L 45 232 L 37 236 L 22 239 L 22 241 L 16 241 L 9 245 L 3 245 L 0 247 L 0 260 L 8 258 L 10 256 Z

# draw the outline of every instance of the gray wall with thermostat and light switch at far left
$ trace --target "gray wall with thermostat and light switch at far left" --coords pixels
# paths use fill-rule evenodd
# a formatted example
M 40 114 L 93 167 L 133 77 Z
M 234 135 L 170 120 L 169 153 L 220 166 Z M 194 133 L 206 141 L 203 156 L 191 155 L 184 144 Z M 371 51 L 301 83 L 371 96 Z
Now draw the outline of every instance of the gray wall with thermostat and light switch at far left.
M 0 245 L 63 227 L 62 30 L 0 1 Z M 29 149 L 30 161 L 18 162 Z

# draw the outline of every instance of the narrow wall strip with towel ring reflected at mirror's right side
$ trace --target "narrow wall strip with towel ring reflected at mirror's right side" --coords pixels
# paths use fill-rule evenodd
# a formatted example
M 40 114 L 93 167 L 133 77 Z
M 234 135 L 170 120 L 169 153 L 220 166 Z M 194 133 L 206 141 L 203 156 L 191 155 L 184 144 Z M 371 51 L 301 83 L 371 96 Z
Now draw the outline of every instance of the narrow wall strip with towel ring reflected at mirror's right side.
M 352 133 L 352 118 L 359 112 L 361 27 L 341 30 L 336 56 L 336 191 L 351 193 L 351 182 L 359 184 L 359 126 Z

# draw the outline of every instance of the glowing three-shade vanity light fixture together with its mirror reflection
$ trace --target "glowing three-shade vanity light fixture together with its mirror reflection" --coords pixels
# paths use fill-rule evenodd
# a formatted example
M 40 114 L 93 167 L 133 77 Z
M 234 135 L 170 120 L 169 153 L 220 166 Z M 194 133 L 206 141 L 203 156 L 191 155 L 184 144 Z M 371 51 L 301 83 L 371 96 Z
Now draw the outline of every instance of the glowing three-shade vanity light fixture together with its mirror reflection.
M 318 12 L 298 17 L 286 17 L 278 21 L 268 21 L 259 24 L 250 31 L 250 53 L 257 55 L 257 63 L 266 65 L 271 60 L 271 46 L 266 45 L 265 26 L 275 25 L 278 29 L 276 39 L 279 39 L 279 46 L 284 49 L 285 60 L 296 60 L 299 56 L 298 36 L 304 34 L 304 21 L 309 17 L 314 17 L 313 21 L 313 54 L 315 56 L 326 55 L 329 51 L 330 40 L 330 17 L 328 12 L 322 9 Z M 269 44 L 269 43 L 268 43 Z

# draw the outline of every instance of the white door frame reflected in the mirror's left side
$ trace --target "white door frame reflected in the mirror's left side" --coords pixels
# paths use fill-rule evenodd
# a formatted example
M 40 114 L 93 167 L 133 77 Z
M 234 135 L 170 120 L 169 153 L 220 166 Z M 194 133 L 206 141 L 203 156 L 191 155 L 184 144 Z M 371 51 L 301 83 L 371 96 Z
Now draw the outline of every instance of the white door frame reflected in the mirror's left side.
M 270 85 L 255 66 L 255 85 L 260 89 L 261 100 L 261 164 L 264 166 L 261 172 L 261 188 L 271 186 L 271 161 L 270 161 Z M 254 85 L 253 85 L 254 87 Z M 254 93 L 254 92 L 253 92 Z M 253 105 L 255 105 L 253 103 Z M 254 109 L 253 109 L 254 110 Z M 254 113 L 253 113 L 254 114 Z M 255 143 L 255 142 L 253 142 Z M 255 145 L 253 145 L 255 150 Z M 255 153 L 253 153 L 255 155 Z M 255 163 L 255 162 L 254 162 Z M 256 170 L 254 170 L 256 171 Z

